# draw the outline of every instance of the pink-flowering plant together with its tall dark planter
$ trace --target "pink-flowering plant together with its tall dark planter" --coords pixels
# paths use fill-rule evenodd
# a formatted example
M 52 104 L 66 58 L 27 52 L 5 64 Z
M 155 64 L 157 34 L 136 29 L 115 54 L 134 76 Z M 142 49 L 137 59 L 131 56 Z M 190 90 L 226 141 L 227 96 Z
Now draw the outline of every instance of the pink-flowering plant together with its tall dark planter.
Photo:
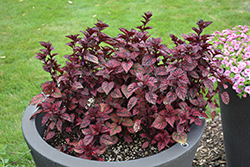
M 211 38 L 213 46 L 221 50 L 215 56 L 219 73 L 231 80 L 225 89 L 230 102 L 220 104 L 227 165 L 250 164 L 250 36 L 248 26 L 237 26 Z

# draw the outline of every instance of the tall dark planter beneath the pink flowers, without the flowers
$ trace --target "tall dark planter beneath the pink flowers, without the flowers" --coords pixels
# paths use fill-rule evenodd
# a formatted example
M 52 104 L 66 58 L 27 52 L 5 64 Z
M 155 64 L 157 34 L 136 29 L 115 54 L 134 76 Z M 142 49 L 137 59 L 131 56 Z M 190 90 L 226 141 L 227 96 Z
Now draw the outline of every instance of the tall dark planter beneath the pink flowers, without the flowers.
M 250 97 L 239 98 L 229 85 L 228 105 L 221 101 L 220 109 L 227 167 L 250 166 Z

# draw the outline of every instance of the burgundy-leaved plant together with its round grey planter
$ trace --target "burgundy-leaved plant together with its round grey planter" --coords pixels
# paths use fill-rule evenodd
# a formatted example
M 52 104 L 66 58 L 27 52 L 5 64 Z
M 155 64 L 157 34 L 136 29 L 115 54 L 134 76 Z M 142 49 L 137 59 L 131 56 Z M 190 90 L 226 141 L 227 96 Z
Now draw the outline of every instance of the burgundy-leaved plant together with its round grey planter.
M 52 81 L 42 84 L 22 120 L 37 166 L 192 165 L 206 107 L 218 107 L 219 88 L 209 74 L 225 79 L 211 64 L 218 53 L 209 49 L 210 35 L 201 35 L 212 22 L 198 21 L 184 41 L 170 35 L 176 46 L 169 49 L 161 38 L 150 38 L 151 16 L 143 15 L 138 31 L 121 28 L 115 38 L 103 33 L 108 25 L 99 20 L 82 31 L 83 38 L 67 36 L 73 53 L 64 56 L 63 67 L 51 43 L 40 42 L 44 48 L 36 58 Z M 221 95 L 228 102 L 226 92 Z M 109 161 L 106 155 L 119 159 L 121 151 L 110 148 L 134 143 L 141 144 L 133 145 L 134 155 L 143 153 L 139 159 L 129 154 L 121 162 L 100 162 Z M 152 149 L 157 154 L 146 157 Z

